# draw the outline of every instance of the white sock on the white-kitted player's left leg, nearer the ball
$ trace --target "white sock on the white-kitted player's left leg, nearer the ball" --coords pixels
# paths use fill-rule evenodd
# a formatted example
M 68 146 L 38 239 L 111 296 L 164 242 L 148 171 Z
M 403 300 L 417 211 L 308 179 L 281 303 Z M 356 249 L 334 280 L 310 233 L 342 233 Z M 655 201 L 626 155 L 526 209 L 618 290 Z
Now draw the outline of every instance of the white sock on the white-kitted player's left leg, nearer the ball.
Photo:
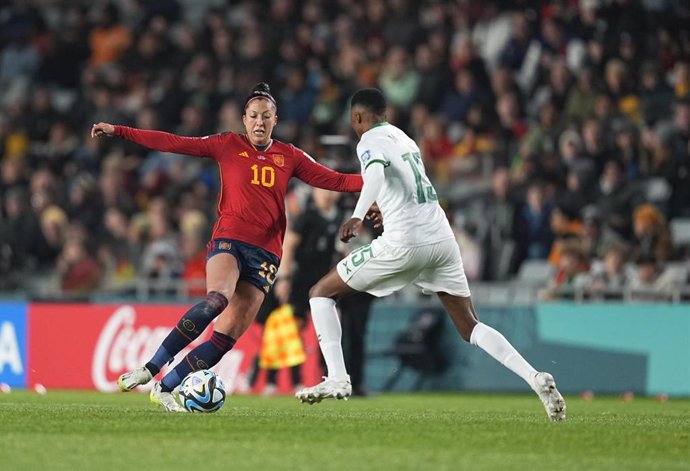
M 340 327 L 338 312 L 335 310 L 335 301 L 331 298 L 311 298 L 309 306 L 319 347 L 328 367 L 328 378 L 338 381 L 349 379 L 343 359 L 343 347 L 340 344 L 343 330 Z

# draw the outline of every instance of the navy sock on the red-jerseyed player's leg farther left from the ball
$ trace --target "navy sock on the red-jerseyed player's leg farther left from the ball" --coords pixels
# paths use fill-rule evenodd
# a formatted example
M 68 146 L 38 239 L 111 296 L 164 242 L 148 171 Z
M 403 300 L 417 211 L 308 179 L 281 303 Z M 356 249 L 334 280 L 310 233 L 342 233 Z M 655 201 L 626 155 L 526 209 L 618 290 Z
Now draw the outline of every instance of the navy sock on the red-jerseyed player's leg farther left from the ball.
M 228 299 L 225 296 L 217 291 L 208 293 L 203 301 L 192 306 L 182 316 L 175 328 L 163 340 L 153 358 L 146 363 L 146 369 L 156 376 L 164 365 L 170 363 L 175 355 L 201 335 L 211 321 L 226 307 L 228 307 Z

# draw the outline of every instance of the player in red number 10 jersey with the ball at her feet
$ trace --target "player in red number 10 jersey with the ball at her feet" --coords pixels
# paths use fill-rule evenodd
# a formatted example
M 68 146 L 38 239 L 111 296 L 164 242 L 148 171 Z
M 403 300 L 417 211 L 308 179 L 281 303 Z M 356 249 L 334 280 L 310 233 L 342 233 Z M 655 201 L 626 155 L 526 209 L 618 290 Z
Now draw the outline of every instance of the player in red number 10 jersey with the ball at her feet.
M 206 262 L 206 298 L 182 316 L 145 366 L 120 376 L 122 391 L 151 381 L 218 317 L 211 339 L 192 350 L 151 391 L 154 403 L 169 411 L 184 411 L 173 389 L 191 371 L 220 361 L 251 325 L 275 281 L 290 178 L 328 190 L 361 190 L 360 175 L 330 170 L 300 149 L 272 139 L 277 119 L 276 101 L 268 85 L 259 83 L 244 103 L 246 134 L 182 137 L 108 123 L 93 125 L 92 137 L 117 136 L 161 152 L 210 157 L 218 162 L 221 176 L 218 221 Z

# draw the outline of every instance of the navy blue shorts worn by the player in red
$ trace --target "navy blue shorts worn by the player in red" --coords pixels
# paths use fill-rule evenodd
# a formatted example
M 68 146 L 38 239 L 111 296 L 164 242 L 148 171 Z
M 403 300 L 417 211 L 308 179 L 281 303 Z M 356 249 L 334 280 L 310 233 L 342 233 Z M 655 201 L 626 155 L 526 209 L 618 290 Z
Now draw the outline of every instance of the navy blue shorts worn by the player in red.
M 264 293 L 271 291 L 276 281 L 280 260 L 270 252 L 235 239 L 213 239 L 208 243 L 206 261 L 219 253 L 229 253 L 237 259 L 240 280 L 245 280 Z

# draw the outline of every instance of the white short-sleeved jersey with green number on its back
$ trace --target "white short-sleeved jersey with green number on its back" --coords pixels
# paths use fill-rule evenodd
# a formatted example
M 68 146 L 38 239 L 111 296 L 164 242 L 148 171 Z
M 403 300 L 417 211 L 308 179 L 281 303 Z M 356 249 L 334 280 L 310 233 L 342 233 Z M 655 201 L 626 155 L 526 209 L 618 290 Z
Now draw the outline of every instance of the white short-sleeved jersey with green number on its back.
M 383 216 L 382 241 L 394 247 L 418 247 L 455 238 L 424 171 L 417 144 L 402 130 L 379 123 L 357 145 L 362 174 L 374 162 L 385 166 L 376 203 Z

